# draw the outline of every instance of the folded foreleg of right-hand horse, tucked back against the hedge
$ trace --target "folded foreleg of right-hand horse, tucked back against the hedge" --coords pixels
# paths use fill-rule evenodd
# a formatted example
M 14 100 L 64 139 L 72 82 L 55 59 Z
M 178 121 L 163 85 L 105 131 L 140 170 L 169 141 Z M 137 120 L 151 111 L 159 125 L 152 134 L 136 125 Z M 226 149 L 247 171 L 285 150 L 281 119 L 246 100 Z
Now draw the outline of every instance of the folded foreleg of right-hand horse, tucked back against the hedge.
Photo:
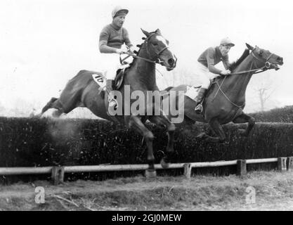
M 223 131 L 223 128 L 217 119 L 211 119 L 209 121 L 209 126 L 214 131 L 217 137 L 209 136 L 205 133 L 202 133 L 198 135 L 197 138 L 204 139 L 204 141 L 215 143 L 223 142 L 226 140 L 225 132 Z

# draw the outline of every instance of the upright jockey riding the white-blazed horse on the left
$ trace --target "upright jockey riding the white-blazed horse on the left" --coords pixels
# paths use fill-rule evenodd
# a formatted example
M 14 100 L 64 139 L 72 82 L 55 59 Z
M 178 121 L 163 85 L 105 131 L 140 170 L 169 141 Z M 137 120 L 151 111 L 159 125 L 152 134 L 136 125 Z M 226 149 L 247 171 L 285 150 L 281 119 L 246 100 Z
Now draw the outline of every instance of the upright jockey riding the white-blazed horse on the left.
M 117 101 L 111 91 L 113 90 L 112 86 L 116 72 L 120 66 L 119 55 L 129 51 L 122 48 L 122 44 L 125 43 L 130 51 L 135 51 L 133 44 L 129 40 L 127 30 L 122 27 L 128 12 L 127 9 L 116 6 L 112 11 L 112 23 L 106 25 L 100 32 L 99 49 L 100 53 L 103 53 L 103 62 L 108 65 L 106 67 L 106 93 L 108 93 L 109 108 L 117 105 Z

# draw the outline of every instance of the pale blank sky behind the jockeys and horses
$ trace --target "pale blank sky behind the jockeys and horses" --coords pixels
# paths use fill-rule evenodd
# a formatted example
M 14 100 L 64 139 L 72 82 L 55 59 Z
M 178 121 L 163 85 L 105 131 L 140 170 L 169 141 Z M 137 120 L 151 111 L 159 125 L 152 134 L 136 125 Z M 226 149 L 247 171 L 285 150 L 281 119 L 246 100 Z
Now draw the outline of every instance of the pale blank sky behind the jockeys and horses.
M 1 0 L 1 105 L 11 108 L 20 100 L 44 105 L 58 97 L 79 70 L 100 71 L 99 33 L 112 22 L 111 12 L 117 5 L 129 9 L 124 27 L 134 45 L 142 43 L 141 28 L 161 30 L 178 58 L 176 75 L 193 71 L 202 51 L 219 45 L 223 37 L 235 43 L 229 53 L 232 61 L 240 57 L 245 43 L 282 56 L 280 70 L 252 77 L 247 108 L 252 110 L 255 104 L 254 87 L 268 79 L 273 83 L 271 98 L 278 106 L 293 105 L 293 4 L 289 0 Z M 172 72 L 157 68 L 164 75 L 157 75 L 163 89 Z M 193 72 L 186 76 L 192 79 Z

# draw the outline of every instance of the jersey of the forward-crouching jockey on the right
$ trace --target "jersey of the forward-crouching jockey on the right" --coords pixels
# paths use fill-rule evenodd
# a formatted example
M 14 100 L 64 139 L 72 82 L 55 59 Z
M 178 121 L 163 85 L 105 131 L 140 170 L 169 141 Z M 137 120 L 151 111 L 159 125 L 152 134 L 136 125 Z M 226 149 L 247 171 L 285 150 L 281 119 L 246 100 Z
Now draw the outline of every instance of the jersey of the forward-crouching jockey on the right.
M 214 65 L 221 61 L 223 61 L 223 64 L 226 68 L 230 65 L 228 55 L 222 56 L 219 46 L 210 47 L 209 49 L 205 50 L 197 59 L 197 61 L 202 63 L 202 65 L 205 67 L 209 68 L 209 72 L 213 72 L 218 75 L 221 73 L 221 70 L 215 68 Z

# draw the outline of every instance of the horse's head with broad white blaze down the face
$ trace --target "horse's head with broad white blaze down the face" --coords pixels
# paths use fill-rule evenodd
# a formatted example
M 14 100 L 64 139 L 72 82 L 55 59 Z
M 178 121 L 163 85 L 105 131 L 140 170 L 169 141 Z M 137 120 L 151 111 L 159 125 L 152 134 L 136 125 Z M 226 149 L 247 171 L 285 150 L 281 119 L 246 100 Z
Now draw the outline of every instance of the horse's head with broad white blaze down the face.
M 145 44 L 150 59 L 164 65 L 168 71 L 173 70 L 176 67 L 177 58 L 169 49 L 169 41 L 162 37 L 159 29 L 155 32 L 142 31 L 146 36 Z

